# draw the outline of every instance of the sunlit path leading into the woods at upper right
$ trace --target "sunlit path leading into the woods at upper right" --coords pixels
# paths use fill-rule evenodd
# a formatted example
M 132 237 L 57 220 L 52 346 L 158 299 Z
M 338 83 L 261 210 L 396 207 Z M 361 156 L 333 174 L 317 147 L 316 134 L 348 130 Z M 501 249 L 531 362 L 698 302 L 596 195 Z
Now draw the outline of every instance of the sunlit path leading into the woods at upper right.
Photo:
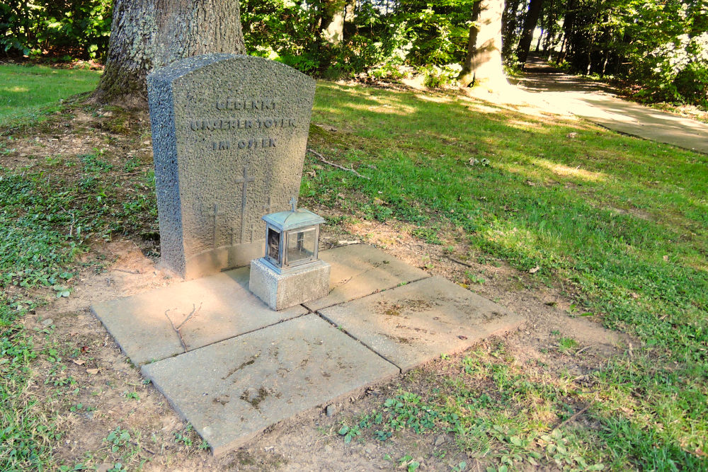
M 542 96 L 549 111 L 569 113 L 624 134 L 708 154 L 708 125 L 617 98 L 605 84 L 552 69 L 532 58 L 518 86 Z

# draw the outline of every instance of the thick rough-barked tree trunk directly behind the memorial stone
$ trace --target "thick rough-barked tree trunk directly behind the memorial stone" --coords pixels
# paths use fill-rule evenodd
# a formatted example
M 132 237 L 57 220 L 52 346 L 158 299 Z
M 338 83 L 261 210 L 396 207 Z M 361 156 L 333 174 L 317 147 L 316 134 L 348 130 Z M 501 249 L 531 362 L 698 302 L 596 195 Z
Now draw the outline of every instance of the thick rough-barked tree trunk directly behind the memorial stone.
M 237 0 L 115 0 L 93 100 L 143 107 L 149 71 L 207 52 L 244 54 Z

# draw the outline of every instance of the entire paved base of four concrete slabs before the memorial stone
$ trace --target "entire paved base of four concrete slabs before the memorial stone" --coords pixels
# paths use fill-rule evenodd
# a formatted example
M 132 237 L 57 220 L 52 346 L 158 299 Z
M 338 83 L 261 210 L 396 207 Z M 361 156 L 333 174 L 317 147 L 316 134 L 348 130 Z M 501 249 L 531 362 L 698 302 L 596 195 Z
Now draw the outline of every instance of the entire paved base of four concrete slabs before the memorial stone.
M 247 267 L 91 308 L 214 454 L 523 322 L 370 246 L 320 256 L 329 294 L 285 311 Z

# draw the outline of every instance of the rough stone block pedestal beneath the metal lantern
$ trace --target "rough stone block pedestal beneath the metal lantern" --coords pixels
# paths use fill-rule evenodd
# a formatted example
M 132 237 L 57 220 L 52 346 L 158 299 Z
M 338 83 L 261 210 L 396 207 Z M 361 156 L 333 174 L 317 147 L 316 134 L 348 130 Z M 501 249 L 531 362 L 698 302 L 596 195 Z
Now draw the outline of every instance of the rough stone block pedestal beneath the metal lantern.
M 249 289 L 274 310 L 282 310 L 329 294 L 330 266 L 316 260 L 278 273 L 263 258 L 251 261 Z

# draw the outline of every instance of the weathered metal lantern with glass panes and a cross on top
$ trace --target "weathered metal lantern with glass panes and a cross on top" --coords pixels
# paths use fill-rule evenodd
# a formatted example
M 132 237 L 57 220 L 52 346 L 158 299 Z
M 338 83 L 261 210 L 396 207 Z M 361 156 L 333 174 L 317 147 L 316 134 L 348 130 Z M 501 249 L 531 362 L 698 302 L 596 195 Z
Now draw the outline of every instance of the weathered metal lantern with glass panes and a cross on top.
M 287 212 L 266 214 L 265 261 L 276 272 L 317 260 L 319 225 L 324 218 L 308 209 L 296 208 L 295 198 L 290 200 L 292 209 Z

